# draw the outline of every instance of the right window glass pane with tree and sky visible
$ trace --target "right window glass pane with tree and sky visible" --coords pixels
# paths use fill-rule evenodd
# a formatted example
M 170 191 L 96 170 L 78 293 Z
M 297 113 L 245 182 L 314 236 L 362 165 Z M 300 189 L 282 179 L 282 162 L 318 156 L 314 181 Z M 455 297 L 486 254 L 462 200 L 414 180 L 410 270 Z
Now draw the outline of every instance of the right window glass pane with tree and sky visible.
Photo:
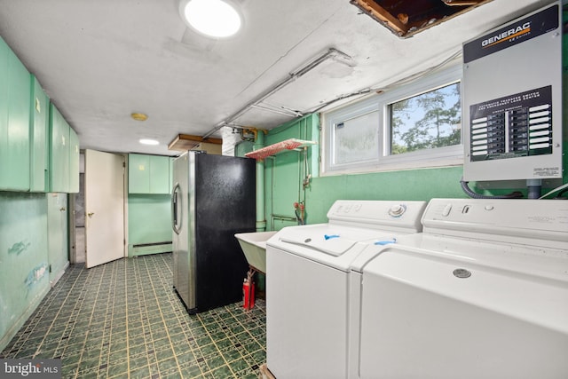
M 389 105 L 390 154 L 461 143 L 460 83 Z

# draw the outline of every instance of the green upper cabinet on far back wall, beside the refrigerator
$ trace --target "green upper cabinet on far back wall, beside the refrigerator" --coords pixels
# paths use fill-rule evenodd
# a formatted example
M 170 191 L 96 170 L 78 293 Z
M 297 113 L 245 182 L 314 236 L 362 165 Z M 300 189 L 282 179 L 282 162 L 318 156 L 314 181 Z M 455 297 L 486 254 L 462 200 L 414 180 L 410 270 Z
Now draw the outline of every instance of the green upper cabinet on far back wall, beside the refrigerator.
M 170 193 L 170 157 L 128 155 L 129 193 Z

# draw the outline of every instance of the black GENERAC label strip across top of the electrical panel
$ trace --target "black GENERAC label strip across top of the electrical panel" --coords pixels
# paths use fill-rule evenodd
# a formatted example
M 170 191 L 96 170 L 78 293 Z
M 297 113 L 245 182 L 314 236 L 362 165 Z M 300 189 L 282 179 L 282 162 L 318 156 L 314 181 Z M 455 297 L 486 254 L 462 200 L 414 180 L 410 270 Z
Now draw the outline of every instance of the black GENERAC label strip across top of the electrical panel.
M 463 63 L 524 43 L 558 28 L 560 7 L 554 4 L 522 20 L 494 30 L 463 45 Z

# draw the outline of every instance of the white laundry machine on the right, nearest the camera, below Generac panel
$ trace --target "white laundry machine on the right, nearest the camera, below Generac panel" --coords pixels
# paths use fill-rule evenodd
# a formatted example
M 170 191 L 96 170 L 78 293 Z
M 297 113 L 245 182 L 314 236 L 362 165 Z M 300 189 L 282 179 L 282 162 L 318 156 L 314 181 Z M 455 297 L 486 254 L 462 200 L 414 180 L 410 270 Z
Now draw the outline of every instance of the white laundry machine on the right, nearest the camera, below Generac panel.
M 567 378 L 568 201 L 434 199 L 422 225 L 353 262 L 350 377 Z

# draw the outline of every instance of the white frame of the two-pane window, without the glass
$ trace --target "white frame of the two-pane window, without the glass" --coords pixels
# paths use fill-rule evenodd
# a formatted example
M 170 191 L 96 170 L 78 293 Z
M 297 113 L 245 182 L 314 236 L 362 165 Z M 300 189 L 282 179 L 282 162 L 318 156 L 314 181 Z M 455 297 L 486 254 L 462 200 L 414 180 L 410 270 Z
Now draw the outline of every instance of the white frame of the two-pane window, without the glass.
M 403 154 L 390 154 L 390 113 L 389 106 L 400 100 L 412 98 L 423 93 L 434 91 L 452 83 L 462 86 L 462 67 L 456 65 L 434 74 L 422 76 L 411 83 L 395 86 L 390 91 L 372 95 L 366 99 L 356 100 L 342 107 L 330 109 L 321 114 L 321 165 L 320 174 L 342 175 L 347 173 L 380 172 L 390 170 L 413 170 L 433 167 L 456 166 L 463 164 L 463 91 L 461 88 L 461 143 L 433 149 L 418 150 Z M 377 159 L 365 162 L 335 164 L 334 126 L 373 110 L 378 111 L 379 152 Z

